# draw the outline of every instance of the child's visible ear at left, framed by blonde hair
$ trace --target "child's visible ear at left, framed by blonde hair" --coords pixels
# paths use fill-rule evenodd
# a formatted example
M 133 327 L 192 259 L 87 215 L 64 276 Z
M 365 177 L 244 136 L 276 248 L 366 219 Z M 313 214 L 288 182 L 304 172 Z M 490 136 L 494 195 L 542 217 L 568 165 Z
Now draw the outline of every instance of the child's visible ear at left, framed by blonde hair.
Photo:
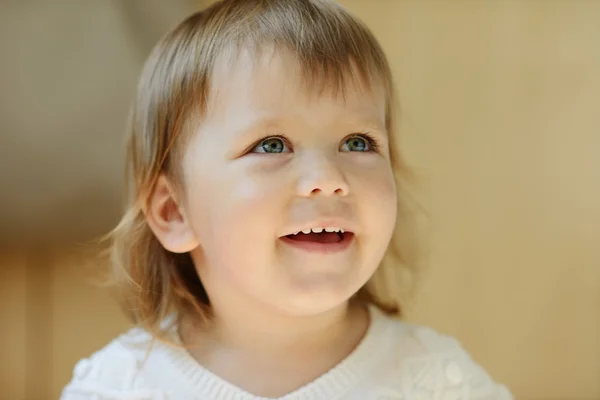
M 198 247 L 198 239 L 181 202 L 164 175 L 156 182 L 145 214 L 150 229 L 168 251 L 186 253 Z

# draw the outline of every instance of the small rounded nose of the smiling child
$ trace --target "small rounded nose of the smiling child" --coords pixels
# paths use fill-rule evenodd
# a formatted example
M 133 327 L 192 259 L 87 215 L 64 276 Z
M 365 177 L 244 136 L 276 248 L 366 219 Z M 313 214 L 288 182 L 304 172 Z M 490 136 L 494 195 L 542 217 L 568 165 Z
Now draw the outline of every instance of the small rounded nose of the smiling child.
M 348 182 L 335 160 L 322 156 L 306 160 L 305 163 L 298 180 L 298 195 L 348 195 Z

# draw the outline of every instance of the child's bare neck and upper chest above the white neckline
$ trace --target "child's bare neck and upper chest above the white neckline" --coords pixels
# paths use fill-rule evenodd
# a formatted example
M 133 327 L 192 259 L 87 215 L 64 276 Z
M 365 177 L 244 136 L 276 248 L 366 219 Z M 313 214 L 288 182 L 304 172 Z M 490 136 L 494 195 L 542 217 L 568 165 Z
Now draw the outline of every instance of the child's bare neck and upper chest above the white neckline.
M 369 324 L 365 308 L 348 304 L 302 317 L 255 308 L 250 313 L 247 304 L 213 309 L 208 325 L 184 320 L 180 326 L 189 353 L 213 374 L 262 397 L 281 397 L 332 370 Z

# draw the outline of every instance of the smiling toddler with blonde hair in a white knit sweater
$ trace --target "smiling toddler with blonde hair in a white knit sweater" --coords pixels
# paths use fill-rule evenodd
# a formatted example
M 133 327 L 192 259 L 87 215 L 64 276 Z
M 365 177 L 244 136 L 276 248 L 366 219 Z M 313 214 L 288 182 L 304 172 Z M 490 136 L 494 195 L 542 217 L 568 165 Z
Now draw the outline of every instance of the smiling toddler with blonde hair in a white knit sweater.
M 398 318 L 410 272 L 390 67 L 328 0 L 224 0 L 158 43 L 111 235 L 136 328 L 63 400 L 507 400 Z

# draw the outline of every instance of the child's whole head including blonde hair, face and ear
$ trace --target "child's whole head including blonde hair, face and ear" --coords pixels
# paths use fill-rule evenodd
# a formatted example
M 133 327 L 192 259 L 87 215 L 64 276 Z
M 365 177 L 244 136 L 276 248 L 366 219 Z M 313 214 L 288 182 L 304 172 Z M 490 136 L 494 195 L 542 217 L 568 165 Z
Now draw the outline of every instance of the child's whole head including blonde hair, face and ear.
M 352 296 L 399 312 L 406 265 L 382 262 L 404 229 L 393 119 L 379 44 L 333 2 L 225 0 L 183 21 L 152 52 L 131 115 L 112 255 L 135 319 L 154 329 L 215 305 L 306 315 Z M 329 227 L 345 232 L 295 234 Z

